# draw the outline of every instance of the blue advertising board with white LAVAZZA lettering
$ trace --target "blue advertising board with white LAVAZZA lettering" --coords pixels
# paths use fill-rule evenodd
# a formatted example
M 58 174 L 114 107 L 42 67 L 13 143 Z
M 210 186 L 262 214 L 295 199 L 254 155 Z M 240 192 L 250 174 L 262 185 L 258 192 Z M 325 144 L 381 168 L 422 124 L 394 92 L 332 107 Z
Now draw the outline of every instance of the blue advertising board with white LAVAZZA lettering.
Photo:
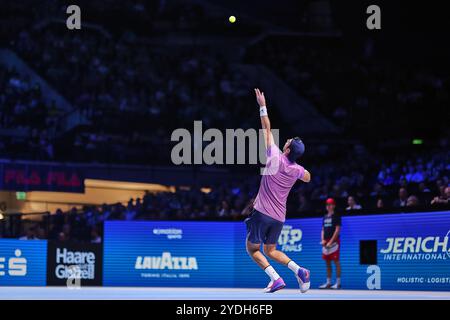
M 105 222 L 105 286 L 232 287 L 232 222 Z

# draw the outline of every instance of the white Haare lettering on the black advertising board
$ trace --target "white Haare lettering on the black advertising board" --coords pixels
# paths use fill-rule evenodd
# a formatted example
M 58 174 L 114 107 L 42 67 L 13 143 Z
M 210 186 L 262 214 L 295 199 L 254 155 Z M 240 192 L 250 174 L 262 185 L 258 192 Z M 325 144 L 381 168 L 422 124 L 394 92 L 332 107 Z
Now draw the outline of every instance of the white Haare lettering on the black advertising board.
M 95 279 L 95 253 L 56 248 L 55 276 L 58 279 Z

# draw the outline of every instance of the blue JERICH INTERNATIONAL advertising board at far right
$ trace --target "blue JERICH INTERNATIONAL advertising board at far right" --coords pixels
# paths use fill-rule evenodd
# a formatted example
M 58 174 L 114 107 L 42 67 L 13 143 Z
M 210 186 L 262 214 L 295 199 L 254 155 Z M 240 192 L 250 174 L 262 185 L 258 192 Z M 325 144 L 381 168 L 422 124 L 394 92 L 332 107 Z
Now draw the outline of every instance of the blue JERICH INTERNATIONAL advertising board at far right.
M 342 219 L 346 288 L 450 291 L 450 212 Z M 362 240 L 375 240 L 377 265 L 359 263 Z

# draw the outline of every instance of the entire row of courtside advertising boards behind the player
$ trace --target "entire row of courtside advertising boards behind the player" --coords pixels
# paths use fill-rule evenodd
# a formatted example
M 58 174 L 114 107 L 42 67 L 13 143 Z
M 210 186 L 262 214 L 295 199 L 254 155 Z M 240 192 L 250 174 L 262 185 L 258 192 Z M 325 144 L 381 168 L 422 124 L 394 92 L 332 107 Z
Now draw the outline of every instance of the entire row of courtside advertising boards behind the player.
M 278 247 L 326 278 L 321 218 L 288 219 Z M 344 289 L 450 291 L 450 212 L 342 217 Z M 262 288 L 243 222 L 108 221 L 104 243 L 0 240 L 0 285 Z M 74 268 L 74 266 L 76 266 Z M 290 288 L 292 273 L 274 266 Z

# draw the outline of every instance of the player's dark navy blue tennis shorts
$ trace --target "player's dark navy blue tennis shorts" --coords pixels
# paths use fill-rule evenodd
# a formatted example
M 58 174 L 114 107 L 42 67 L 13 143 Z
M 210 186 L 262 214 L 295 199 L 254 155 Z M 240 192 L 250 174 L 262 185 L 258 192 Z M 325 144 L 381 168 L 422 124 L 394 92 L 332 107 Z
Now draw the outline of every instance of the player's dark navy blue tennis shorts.
M 250 217 L 245 219 L 245 224 L 247 225 L 247 240 L 254 244 L 276 244 L 281 230 L 283 230 L 283 222 L 255 209 Z

